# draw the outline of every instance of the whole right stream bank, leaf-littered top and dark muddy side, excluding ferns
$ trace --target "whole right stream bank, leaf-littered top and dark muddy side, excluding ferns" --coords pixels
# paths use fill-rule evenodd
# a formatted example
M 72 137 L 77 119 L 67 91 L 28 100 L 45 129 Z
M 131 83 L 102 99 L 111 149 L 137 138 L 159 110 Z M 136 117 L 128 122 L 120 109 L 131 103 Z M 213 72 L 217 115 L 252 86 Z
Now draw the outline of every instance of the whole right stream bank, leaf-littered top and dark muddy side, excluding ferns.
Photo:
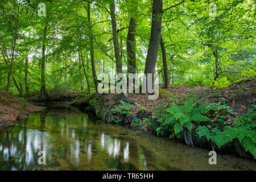
M 174 98 L 176 102 L 179 102 L 185 97 L 199 97 L 203 98 L 201 101 L 203 103 L 225 101 L 225 103 L 230 106 L 230 109 L 232 109 L 234 113 L 230 114 L 227 119 L 228 121 L 224 122 L 226 126 L 232 125 L 233 119 L 237 115 L 246 113 L 246 111 L 251 108 L 251 105 L 254 104 L 255 82 L 255 78 L 252 78 L 221 89 L 172 85 L 170 89 L 162 88 L 163 91 L 167 92 L 162 92 L 158 100 L 148 100 L 146 94 L 128 94 L 126 97 L 122 94 L 94 94 L 87 100 L 74 102 L 72 105 L 80 107 L 81 110 L 94 111 L 97 117 L 105 122 L 139 127 L 142 130 L 156 134 L 156 129 L 159 127 L 159 123 L 156 121 L 157 118 L 154 118 L 154 112 L 156 110 L 161 109 L 161 107 L 170 106 L 170 101 L 174 101 Z M 129 110 L 128 113 L 118 111 L 119 106 L 123 106 L 120 101 L 131 106 L 125 106 L 127 107 L 126 110 Z M 211 122 L 214 123 L 220 116 L 219 113 L 214 115 Z M 136 121 L 138 119 L 142 121 L 141 125 L 137 125 Z M 148 119 L 151 121 L 151 125 L 148 125 Z M 205 137 L 200 138 L 196 132 L 197 127 L 199 126 L 193 127 L 191 134 L 183 132 L 181 138 L 174 139 L 186 144 L 189 144 L 189 142 L 191 142 L 189 140 L 192 140 L 193 146 L 195 147 L 209 148 L 209 150 L 215 150 L 222 154 L 242 156 L 246 159 L 255 160 L 249 152 L 243 150 L 237 140 L 233 140 L 233 142 L 229 142 L 225 146 L 218 148 L 214 143 L 208 142 Z M 162 135 L 169 137 L 170 134 L 171 133 L 165 132 Z

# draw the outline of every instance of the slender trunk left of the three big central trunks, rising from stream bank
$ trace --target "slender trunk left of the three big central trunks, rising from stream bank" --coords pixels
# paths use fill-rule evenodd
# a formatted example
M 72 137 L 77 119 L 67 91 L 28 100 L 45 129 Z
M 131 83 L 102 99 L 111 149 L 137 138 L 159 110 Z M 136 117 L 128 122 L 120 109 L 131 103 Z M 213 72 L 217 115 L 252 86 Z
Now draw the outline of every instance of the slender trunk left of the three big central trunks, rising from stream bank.
M 92 22 L 90 20 L 90 3 L 89 2 L 88 2 L 88 9 L 87 9 L 87 16 L 88 16 L 89 30 L 90 30 L 90 63 L 92 65 L 94 86 L 95 86 L 96 92 L 98 92 L 98 82 L 97 82 L 95 60 L 94 60 L 93 33 L 92 33 Z

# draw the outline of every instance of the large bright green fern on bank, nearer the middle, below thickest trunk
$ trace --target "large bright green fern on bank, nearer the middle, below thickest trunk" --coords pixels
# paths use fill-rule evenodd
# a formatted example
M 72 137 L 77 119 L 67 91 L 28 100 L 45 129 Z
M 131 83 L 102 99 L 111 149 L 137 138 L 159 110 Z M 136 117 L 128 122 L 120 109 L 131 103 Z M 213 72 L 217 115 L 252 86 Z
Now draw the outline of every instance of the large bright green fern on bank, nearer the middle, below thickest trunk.
M 210 119 L 202 115 L 207 107 L 207 104 L 199 105 L 196 107 L 199 101 L 194 101 L 192 98 L 188 98 L 184 101 L 183 105 L 178 106 L 175 103 L 171 107 L 164 109 L 166 114 L 163 114 L 158 122 L 160 127 L 156 129 L 160 134 L 164 130 L 171 131 L 180 138 L 180 133 L 184 128 L 191 131 L 193 123 L 200 123 L 203 121 L 209 121 Z M 172 135 L 173 137 L 174 135 Z M 171 137 L 171 136 L 170 136 Z

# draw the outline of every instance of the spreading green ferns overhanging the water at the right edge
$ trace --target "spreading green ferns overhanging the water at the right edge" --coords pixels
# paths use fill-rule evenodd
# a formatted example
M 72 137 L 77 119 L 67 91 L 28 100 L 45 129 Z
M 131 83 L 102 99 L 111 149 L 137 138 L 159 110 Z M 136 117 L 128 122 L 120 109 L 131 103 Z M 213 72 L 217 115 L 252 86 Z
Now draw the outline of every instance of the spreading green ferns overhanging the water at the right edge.
M 233 126 L 225 126 L 223 130 L 217 127 L 212 130 L 205 126 L 198 127 L 199 137 L 204 136 L 207 140 L 212 140 L 219 148 L 236 139 L 246 152 L 249 151 L 256 158 L 256 106 L 253 107 L 254 109 L 249 109 L 247 114 L 238 115 L 234 119 Z

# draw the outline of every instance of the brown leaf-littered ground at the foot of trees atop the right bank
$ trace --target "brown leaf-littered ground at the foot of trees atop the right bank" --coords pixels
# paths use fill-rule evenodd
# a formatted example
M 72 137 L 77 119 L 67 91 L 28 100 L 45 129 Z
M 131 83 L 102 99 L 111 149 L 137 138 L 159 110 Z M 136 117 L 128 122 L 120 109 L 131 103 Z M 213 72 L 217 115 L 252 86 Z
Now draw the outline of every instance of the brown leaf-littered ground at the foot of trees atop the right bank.
M 154 110 L 159 109 L 159 107 L 162 105 L 165 105 L 164 107 L 167 107 L 171 106 L 172 102 L 179 102 L 187 97 L 197 97 L 201 99 L 200 104 L 225 102 L 225 104 L 230 106 L 230 109 L 234 111 L 234 113 L 230 115 L 228 121 L 226 121 L 232 123 L 233 119 L 237 115 L 247 113 L 248 109 L 252 108 L 251 105 L 255 105 L 256 102 L 256 77 L 243 79 L 237 82 L 238 83 L 234 83 L 230 86 L 220 89 L 179 85 L 170 85 L 170 88 L 165 89 L 163 88 L 164 85 L 159 85 L 162 91 L 160 91 L 157 100 L 148 100 L 147 94 L 127 94 L 126 98 L 130 100 L 131 105 L 136 102 L 140 106 L 146 108 L 143 111 L 144 114 L 142 114 L 141 110 L 138 109 L 139 106 L 133 105 L 133 107 L 131 107 L 130 109 L 131 114 L 129 115 L 129 117 L 146 117 L 147 115 L 151 115 Z M 97 100 L 96 114 L 102 113 L 104 111 L 104 119 L 112 122 L 112 118 L 114 116 L 110 114 L 110 109 L 118 106 L 118 100 L 120 100 L 120 95 L 94 94 L 89 99 L 92 98 L 96 98 Z M 109 118 L 106 118 L 106 116 L 108 116 Z M 220 117 L 220 115 L 216 114 L 216 117 L 214 119 L 216 120 L 218 119 L 218 117 Z

